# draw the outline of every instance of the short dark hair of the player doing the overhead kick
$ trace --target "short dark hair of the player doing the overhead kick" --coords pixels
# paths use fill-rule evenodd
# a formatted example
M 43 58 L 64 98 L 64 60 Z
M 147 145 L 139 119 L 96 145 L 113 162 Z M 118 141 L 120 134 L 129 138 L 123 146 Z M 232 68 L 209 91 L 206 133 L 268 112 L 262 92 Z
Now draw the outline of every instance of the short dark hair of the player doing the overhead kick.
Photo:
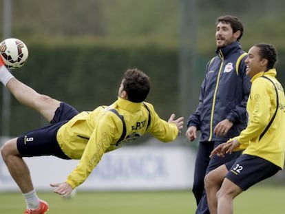
M 149 76 L 139 69 L 127 69 L 123 76 L 123 89 L 129 101 L 140 103 L 147 98 L 150 89 Z

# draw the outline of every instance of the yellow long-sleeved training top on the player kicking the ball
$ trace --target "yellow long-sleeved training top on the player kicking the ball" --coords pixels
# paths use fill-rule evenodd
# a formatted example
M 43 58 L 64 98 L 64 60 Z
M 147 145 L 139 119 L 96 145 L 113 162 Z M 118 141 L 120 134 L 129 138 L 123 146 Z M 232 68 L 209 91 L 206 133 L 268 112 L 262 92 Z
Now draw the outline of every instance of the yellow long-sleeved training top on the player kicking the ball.
M 123 116 L 123 120 L 111 109 Z M 120 140 L 124 126 L 125 136 Z M 56 136 L 68 157 L 80 159 L 66 182 L 72 188 L 82 184 L 104 153 L 118 149 L 146 132 L 162 142 L 171 142 L 178 136 L 176 124 L 162 120 L 150 103 L 132 103 L 118 98 L 110 106 L 97 107 L 94 111 L 83 111 L 74 116 Z

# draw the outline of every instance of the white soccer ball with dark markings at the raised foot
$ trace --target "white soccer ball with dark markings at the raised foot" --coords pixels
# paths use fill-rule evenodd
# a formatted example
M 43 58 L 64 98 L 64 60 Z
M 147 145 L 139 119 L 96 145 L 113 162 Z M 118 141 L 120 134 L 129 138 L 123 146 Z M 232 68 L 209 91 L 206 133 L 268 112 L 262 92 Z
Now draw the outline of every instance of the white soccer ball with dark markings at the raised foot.
M 10 69 L 22 67 L 27 61 L 28 55 L 27 45 L 19 39 L 5 39 L 0 43 L 0 56 L 6 67 Z

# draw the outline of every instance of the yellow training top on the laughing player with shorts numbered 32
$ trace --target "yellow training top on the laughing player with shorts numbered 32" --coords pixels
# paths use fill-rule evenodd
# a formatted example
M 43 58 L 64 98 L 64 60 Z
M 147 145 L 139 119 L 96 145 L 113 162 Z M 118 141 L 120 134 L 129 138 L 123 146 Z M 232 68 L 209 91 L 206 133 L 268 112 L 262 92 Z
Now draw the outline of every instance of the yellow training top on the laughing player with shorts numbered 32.
M 255 74 L 251 79 L 251 93 L 246 105 L 249 114 L 249 124 L 244 129 L 237 141 L 244 154 L 258 156 L 283 169 L 285 151 L 285 97 L 282 85 L 275 78 L 275 69 Z M 266 76 L 270 78 L 269 81 Z M 277 95 L 278 102 L 277 106 Z M 272 124 L 268 123 L 277 113 Z M 268 127 L 268 129 L 266 129 Z M 264 131 L 265 130 L 265 131 Z

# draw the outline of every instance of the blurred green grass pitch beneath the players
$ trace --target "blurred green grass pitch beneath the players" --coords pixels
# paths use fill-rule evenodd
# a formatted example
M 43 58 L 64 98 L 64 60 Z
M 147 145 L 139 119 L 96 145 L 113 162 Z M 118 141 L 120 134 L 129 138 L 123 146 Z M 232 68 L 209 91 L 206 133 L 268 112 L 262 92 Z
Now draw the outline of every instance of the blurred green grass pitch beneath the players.
M 103 192 L 78 191 L 70 200 L 52 192 L 39 192 L 50 204 L 48 214 L 189 214 L 196 203 L 191 191 Z M 234 201 L 234 213 L 283 214 L 285 186 L 253 186 Z M 23 213 L 25 202 L 21 193 L 0 193 L 0 213 Z

